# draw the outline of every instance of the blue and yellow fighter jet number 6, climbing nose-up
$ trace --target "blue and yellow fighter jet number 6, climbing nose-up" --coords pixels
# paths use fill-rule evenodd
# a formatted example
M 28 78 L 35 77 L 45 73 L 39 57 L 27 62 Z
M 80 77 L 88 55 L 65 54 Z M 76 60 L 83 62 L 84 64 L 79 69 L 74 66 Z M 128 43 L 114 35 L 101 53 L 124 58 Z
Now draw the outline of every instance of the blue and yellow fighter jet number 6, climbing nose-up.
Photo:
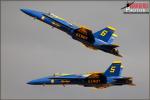
M 104 52 L 122 57 L 119 54 L 118 49 L 116 49 L 119 45 L 113 44 L 117 34 L 114 33 L 116 29 L 112 26 L 107 26 L 106 28 L 93 33 L 92 30 L 83 26 L 73 25 L 53 13 L 44 13 L 30 9 L 21 9 L 21 11 L 34 19 L 38 19 L 48 25 L 51 25 L 52 27 L 66 32 L 73 39 L 80 41 L 88 48 L 102 50 Z

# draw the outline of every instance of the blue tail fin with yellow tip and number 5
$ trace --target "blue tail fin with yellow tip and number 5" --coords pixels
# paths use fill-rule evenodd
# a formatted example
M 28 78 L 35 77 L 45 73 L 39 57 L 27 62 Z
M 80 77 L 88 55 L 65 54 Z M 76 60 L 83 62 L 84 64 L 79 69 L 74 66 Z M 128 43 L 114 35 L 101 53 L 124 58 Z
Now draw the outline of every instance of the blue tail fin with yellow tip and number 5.
M 122 72 L 123 66 L 121 65 L 121 61 L 114 61 L 110 67 L 104 72 L 104 75 L 107 77 L 110 76 L 120 76 Z

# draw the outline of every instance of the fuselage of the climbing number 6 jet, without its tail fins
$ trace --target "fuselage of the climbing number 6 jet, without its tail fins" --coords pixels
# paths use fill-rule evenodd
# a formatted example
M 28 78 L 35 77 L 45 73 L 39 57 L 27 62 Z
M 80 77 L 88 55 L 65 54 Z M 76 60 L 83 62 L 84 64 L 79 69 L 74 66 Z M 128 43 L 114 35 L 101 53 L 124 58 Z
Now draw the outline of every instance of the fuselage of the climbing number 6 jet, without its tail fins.
M 86 47 L 94 49 L 94 50 L 102 50 L 107 53 L 111 53 L 116 56 L 120 56 L 116 47 L 112 46 L 108 42 L 104 42 L 98 38 L 95 38 L 92 31 L 85 27 L 78 27 L 73 25 L 63 18 L 60 18 L 52 13 L 46 14 L 39 11 L 34 11 L 30 9 L 21 9 L 25 14 L 33 17 L 34 19 L 38 19 L 52 27 L 60 29 L 70 35 L 74 40 L 80 41 Z M 102 35 L 105 35 L 104 33 Z M 108 46 L 107 46 L 108 45 Z

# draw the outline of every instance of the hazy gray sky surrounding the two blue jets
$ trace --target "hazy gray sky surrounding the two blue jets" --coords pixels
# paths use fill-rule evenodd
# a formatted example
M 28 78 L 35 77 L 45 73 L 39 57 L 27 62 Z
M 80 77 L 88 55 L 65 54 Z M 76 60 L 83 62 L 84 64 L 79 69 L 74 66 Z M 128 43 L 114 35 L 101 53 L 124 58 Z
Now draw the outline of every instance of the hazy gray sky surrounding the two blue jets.
M 123 14 L 121 1 L 2 1 L 1 83 L 3 99 L 144 99 L 149 96 L 149 15 Z M 118 58 L 93 51 L 25 15 L 20 8 L 52 12 L 93 32 L 112 25 L 119 37 Z M 82 86 L 31 86 L 26 82 L 61 73 L 103 72 L 113 60 L 122 60 L 123 75 L 135 87 L 94 90 Z

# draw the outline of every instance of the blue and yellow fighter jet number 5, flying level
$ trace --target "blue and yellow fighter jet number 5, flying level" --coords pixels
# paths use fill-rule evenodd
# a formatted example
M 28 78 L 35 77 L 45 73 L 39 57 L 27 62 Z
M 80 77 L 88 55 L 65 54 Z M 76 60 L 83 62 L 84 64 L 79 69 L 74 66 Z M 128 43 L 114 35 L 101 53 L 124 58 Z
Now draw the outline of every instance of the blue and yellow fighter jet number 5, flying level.
M 132 77 L 121 76 L 123 66 L 114 61 L 103 73 L 53 74 L 48 77 L 29 81 L 30 85 L 82 85 L 84 87 L 106 88 L 109 86 L 134 85 Z

